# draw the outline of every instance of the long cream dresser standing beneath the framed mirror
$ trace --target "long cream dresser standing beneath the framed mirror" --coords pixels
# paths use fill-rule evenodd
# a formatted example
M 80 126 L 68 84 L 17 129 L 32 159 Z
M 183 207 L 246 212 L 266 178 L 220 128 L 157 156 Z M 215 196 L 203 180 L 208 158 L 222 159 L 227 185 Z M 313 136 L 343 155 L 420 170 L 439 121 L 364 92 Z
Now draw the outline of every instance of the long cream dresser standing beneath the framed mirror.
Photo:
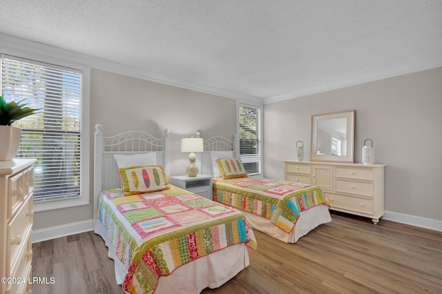
M 345 164 L 284 161 L 285 179 L 318 186 L 332 210 L 369 217 L 374 224 L 384 215 L 385 164 Z

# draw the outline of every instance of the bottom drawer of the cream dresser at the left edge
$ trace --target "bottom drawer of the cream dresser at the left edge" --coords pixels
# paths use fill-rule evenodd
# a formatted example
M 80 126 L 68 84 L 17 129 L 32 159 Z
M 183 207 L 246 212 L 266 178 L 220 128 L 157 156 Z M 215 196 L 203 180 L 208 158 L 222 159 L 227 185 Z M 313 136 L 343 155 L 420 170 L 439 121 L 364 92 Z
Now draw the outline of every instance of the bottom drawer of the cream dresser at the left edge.
M 30 239 L 30 234 L 28 239 L 26 239 L 25 246 L 21 247 L 19 252 L 19 259 L 17 263 L 11 268 L 10 277 L 14 279 L 14 283 L 8 284 L 6 286 L 5 294 L 12 293 L 25 293 L 28 287 L 29 277 L 31 276 L 31 264 L 32 264 L 32 242 Z

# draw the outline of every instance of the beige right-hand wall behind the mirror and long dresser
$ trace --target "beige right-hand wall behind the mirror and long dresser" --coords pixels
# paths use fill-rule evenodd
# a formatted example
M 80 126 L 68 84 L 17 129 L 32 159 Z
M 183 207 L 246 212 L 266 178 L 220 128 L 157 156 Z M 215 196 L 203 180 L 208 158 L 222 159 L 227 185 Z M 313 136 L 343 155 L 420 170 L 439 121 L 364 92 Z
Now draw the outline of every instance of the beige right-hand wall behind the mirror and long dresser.
M 370 138 L 387 164 L 385 209 L 442 220 L 442 68 L 266 104 L 265 177 L 283 177 L 298 140 L 309 159 L 311 115 L 344 110 L 356 110 L 355 162 Z

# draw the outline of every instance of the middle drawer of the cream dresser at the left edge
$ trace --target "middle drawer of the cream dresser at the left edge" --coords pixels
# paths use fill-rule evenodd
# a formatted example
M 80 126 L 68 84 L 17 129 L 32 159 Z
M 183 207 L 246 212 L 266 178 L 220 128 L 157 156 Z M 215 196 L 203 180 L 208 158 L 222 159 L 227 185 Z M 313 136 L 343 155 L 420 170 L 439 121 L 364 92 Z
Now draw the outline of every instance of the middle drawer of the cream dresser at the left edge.
M 26 202 L 20 210 L 10 219 L 6 226 L 6 253 L 10 258 L 9 264 L 15 263 L 21 244 L 25 242 L 27 235 L 32 229 L 32 197 L 26 198 Z

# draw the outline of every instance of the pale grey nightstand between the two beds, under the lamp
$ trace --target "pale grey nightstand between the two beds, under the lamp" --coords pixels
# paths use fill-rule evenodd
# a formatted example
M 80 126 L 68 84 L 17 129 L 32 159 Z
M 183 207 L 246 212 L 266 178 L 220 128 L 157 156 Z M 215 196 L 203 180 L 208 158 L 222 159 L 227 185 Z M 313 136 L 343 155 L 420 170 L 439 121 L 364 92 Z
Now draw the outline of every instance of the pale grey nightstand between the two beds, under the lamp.
M 169 183 L 178 188 L 188 190 L 204 198 L 212 200 L 212 175 L 197 175 L 189 177 L 187 175 L 177 175 L 169 178 Z

